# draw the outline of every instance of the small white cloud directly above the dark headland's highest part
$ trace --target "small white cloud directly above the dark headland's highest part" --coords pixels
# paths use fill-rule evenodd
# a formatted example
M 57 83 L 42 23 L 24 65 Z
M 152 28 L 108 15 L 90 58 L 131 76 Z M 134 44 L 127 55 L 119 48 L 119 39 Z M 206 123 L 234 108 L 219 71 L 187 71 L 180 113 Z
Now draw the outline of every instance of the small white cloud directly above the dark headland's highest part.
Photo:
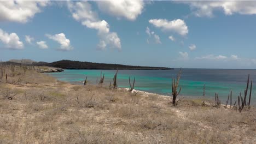
M 59 33 L 55 35 L 46 34 L 46 37 L 54 41 L 57 41 L 57 43 L 61 45 L 59 50 L 63 50 L 63 51 L 73 50 L 73 47 L 70 44 L 70 40 L 67 39 L 66 35 L 63 33 Z

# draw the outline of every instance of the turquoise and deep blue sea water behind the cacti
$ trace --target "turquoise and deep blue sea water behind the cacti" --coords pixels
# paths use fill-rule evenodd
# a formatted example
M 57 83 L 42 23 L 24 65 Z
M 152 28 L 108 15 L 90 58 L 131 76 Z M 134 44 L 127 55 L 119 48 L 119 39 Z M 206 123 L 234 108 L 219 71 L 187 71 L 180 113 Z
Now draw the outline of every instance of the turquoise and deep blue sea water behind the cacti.
M 83 85 L 85 77 L 88 76 L 90 84 L 96 84 L 96 79 L 100 79 L 102 71 L 105 74 L 104 83 L 106 86 L 113 82 L 116 70 L 65 70 L 61 73 L 49 73 L 61 81 L 78 83 Z M 129 76 L 131 81 L 135 80 L 135 89 L 171 95 L 172 77 L 176 77 L 179 69 L 174 70 L 118 70 L 118 87 L 129 88 Z M 203 84 L 206 87 L 206 97 L 214 98 L 214 93 L 218 93 L 220 99 L 226 100 L 232 89 L 232 99 L 235 101 L 237 95 L 243 92 L 246 87 L 247 76 L 250 80 L 256 80 L 256 70 L 238 69 L 182 69 L 180 95 L 199 97 L 203 94 Z M 252 91 L 252 103 L 255 104 L 256 88 Z M 242 93 L 243 95 L 243 93 Z

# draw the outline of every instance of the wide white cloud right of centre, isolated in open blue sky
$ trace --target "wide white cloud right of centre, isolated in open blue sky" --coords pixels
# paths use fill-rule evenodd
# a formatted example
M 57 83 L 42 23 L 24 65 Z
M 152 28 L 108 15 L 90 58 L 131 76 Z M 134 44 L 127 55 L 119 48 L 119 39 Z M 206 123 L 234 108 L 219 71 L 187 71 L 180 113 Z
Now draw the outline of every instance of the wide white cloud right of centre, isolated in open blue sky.
M 188 27 L 186 23 L 181 20 L 168 21 L 166 19 L 151 19 L 149 23 L 152 23 L 155 27 L 161 28 L 163 31 L 176 32 L 180 35 L 188 34 Z

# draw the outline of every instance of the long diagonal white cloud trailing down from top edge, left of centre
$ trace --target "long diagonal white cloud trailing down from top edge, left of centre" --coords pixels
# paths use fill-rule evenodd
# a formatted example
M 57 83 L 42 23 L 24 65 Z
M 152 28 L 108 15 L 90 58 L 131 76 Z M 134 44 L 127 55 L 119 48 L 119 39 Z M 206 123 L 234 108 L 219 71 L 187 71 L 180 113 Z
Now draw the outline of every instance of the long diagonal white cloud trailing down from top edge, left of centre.
M 100 37 L 100 43 L 97 45 L 98 50 L 103 50 L 106 46 L 117 48 L 121 50 L 121 40 L 118 34 L 110 32 L 108 22 L 100 20 L 95 11 L 91 9 L 91 5 L 87 1 L 82 2 L 67 2 L 68 9 L 71 11 L 75 20 L 82 23 L 82 25 L 96 29 Z

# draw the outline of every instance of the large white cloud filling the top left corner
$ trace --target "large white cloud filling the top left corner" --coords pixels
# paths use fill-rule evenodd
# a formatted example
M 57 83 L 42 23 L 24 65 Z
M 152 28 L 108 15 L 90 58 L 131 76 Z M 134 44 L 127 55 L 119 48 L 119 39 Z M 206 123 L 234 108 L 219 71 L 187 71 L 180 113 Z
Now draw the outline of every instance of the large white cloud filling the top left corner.
M 14 21 L 26 23 L 40 13 L 48 1 L 0 1 L 0 21 Z

